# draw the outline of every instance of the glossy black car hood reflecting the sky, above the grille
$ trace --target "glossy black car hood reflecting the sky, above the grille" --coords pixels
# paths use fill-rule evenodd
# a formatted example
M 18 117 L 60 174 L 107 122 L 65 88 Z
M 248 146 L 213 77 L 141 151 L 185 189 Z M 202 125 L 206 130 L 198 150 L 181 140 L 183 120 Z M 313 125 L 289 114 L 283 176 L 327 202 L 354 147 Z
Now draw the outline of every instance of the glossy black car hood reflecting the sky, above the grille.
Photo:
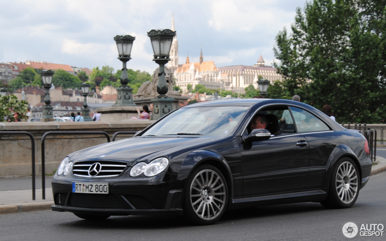
M 147 161 L 173 152 L 202 145 L 224 137 L 156 136 L 132 137 L 74 152 L 68 157 L 75 161 Z

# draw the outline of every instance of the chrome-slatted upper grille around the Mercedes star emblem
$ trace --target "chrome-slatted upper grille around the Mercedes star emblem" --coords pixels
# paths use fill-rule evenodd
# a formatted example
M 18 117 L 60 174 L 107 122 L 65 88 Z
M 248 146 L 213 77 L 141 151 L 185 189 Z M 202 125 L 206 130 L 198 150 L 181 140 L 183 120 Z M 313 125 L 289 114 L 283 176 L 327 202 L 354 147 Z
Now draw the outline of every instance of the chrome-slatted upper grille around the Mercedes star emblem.
M 90 176 L 88 173 L 88 169 L 95 164 L 101 164 L 101 170 L 96 176 Z M 84 161 L 84 162 L 76 162 L 74 164 L 73 174 L 74 176 L 82 176 L 87 178 L 106 178 L 112 176 L 119 176 L 119 174 L 124 171 L 127 163 L 125 162 L 114 162 L 114 161 Z M 91 173 L 92 175 L 94 173 Z

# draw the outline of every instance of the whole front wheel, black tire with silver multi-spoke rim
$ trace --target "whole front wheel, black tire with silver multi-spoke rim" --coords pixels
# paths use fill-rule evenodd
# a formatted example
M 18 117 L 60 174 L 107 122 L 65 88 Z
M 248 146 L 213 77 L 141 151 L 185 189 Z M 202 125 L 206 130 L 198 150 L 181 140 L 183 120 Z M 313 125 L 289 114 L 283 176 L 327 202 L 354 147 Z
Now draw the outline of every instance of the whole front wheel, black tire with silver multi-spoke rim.
M 187 181 L 184 215 L 194 224 L 214 224 L 224 214 L 228 197 L 227 182 L 221 171 L 212 165 L 199 166 Z

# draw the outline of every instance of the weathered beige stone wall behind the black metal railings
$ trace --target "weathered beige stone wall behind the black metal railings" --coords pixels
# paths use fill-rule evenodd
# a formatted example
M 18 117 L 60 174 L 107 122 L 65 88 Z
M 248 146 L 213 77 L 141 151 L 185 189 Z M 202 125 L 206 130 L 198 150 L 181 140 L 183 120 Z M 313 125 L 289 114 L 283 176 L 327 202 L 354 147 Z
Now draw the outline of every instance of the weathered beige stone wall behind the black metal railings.
M 51 131 L 103 131 L 112 138 L 115 132 L 143 130 L 154 121 L 124 120 L 96 122 L 11 122 L 0 123 L 1 131 L 30 132 L 35 138 L 36 174 L 41 175 L 41 138 Z M 116 140 L 132 135 L 119 135 Z M 52 135 L 46 137 L 46 174 L 52 174 L 68 154 L 107 142 L 104 135 Z M 30 176 L 31 141 L 24 135 L 0 135 L 0 177 Z

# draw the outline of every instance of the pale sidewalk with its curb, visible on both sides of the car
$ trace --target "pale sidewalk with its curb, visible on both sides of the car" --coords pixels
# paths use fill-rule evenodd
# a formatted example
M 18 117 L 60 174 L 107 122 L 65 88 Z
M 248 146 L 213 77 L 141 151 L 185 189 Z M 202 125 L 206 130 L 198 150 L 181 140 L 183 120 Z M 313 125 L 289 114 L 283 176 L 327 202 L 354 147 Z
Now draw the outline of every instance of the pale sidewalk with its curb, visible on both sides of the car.
M 371 176 L 386 171 L 386 159 L 376 157 L 377 164 L 372 166 Z M 46 188 L 46 200 L 42 200 L 42 189 L 36 189 L 36 200 L 32 201 L 32 190 L 0 191 L 0 214 L 49 210 L 54 204 L 51 188 Z

